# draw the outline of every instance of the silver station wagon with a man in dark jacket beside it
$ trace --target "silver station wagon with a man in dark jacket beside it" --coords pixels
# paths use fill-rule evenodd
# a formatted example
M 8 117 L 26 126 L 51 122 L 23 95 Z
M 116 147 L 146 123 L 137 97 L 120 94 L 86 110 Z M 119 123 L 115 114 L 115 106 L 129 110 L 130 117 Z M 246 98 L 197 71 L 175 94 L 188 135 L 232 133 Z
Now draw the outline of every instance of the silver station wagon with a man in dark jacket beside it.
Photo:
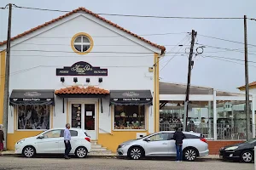
M 174 131 L 162 131 L 149 134 L 141 139 L 134 139 L 119 144 L 118 156 L 128 156 L 131 159 L 141 159 L 143 156 L 176 156 L 176 145 L 173 139 Z M 207 139 L 201 133 L 183 132 L 183 160 L 195 161 L 196 157 L 208 156 Z

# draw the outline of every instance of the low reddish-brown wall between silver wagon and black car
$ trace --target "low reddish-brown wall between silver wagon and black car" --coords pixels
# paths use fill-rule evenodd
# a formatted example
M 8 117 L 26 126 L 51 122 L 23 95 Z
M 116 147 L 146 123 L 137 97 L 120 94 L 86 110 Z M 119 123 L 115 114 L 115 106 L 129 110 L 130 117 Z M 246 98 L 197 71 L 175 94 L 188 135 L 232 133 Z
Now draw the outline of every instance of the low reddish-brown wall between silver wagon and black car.
M 209 148 L 209 155 L 218 155 L 219 154 L 219 149 L 231 145 L 231 144 L 239 144 L 243 142 L 242 140 L 224 140 L 224 141 L 208 141 L 208 148 Z

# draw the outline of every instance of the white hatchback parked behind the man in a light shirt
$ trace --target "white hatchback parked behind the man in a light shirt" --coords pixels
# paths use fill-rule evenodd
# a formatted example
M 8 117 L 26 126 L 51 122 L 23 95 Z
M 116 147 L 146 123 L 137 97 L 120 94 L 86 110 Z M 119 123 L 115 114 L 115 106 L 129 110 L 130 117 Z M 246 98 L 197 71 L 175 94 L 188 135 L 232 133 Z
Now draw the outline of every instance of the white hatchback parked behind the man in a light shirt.
M 20 139 L 15 144 L 15 154 L 32 157 L 36 154 L 64 154 L 65 128 L 52 128 L 37 136 Z M 81 128 L 70 128 L 70 154 L 84 158 L 90 152 L 90 136 Z

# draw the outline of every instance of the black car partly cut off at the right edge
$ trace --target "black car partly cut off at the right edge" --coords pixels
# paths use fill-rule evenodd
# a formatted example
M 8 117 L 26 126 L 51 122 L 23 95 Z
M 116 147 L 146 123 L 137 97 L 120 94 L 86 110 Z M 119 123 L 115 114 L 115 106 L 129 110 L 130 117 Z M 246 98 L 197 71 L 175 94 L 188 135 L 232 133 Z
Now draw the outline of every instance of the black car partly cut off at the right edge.
M 254 160 L 254 146 L 256 146 L 256 139 L 225 146 L 219 150 L 219 157 L 224 160 L 252 162 Z

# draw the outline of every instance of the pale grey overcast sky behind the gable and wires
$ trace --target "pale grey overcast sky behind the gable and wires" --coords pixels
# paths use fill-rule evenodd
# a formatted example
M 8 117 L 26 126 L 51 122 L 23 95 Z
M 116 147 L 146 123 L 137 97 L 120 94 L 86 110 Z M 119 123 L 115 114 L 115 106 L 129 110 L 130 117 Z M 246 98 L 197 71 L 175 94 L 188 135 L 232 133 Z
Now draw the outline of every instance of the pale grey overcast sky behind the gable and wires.
M 255 0 L 1 0 L 0 7 L 7 3 L 15 3 L 18 6 L 33 8 L 52 8 L 61 10 L 73 10 L 84 7 L 94 13 L 107 14 L 138 14 L 138 15 L 160 15 L 160 16 L 190 16 L 190 17 L 243 17 L 247 14 L 248 18 L 256 18 Z M 12 37 L 27 31 L 32 27 L 38 26 L 52 20 L 63 13 L 47 12 L 30 9 L 14 8 Z M 195 48 L 204 44 L 204 53 L 197 56 L 192 70 L 191 84 L 207 86 L 220 90 L 236 92 L 237 87 L 245 84 L 244 78 L 244 59 L 241 43 L 226 42 L 212 39 L 209 37 L 220 37 L 236 42 L 244 42 L 243 20 L 180 20 L 180 19 L 153 19 L 135 18 L 120 16 L 105 16 L 119 26 L 125 27 L 137 34 L 165 34 L 167 35 L 144 36 L 146 39 L 166 46 L 164 59 L 160 60 L 161 81 L 165 82 L 187 82 L 188 54 L 184 53 L 185 48 L 177 47 L 177 44 L 189 45 L 190 37 L 183 32 L 192 29 L 198 35 Z M 0 40 L 7 37 L 8 9 L 0 9 Z M 247 20 L 248 43 L 256 45 L 256 21 Z M 176 45 L 176 46 L 173 46 Z M 212 47 L 209 47 L 212 46 Z M 227 48 L 227 49 L 221 49 Z M 230 51 L 230 49 L 241 48 L 240 51 Z M 248 46 L 249 63 L 249 82 L 256 81 L 256 46 Z M 177 53 L 175 55 L 175 53 Z M 174 56 L 174 57 L 173 57 Z M 215 56 L 214 58 L 212 56 Z M 172 58 L 173 57 L 173 58 Z M 231 59 L 225 59 L 231 58 Z M 169 59 L 172 59 L 169 61 Z M 237 60 L 234 60 L 237 59 Z M 241 59 L 241 61 L 239 61 Z M 169 61 L 169 62 L 168 62 Z

